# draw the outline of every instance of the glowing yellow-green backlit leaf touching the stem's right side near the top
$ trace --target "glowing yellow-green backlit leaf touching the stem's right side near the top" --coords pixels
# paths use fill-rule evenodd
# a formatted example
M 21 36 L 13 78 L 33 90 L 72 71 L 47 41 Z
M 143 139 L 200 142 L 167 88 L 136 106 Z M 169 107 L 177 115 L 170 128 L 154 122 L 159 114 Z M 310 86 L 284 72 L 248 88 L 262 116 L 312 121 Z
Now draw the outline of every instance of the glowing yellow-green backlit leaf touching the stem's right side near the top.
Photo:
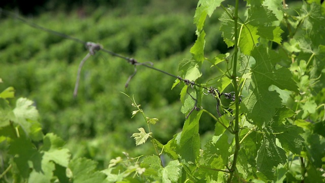
M 242 53 L 250 55 L 254 46 L 258 43 L 257 27 L 250 24 L 243 25 L 239 38 L 239 47 Z

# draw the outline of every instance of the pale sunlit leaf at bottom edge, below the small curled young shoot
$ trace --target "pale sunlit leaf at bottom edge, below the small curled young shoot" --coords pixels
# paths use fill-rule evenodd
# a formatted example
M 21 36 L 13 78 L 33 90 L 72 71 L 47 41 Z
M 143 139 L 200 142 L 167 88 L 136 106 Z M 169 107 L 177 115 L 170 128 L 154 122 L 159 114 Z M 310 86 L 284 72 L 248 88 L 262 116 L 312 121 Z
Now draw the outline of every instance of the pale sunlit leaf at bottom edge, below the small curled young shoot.
M 181 175 L 181 166 L 178 160 L 174 160 L 168 163 L 163 169 L 163 182 L 177 182 Z

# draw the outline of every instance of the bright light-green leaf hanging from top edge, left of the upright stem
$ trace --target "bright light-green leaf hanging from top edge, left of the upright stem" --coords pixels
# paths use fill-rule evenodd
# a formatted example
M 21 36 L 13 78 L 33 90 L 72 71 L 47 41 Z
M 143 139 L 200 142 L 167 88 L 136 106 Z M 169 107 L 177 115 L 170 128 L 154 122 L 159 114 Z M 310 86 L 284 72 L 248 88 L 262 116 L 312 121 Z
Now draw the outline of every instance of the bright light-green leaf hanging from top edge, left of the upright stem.
M 211 17 L 214 10 L 220 6 L 224 0 L 200 0 L 194 15 L 194 23 L 197 25 L 197 31 L 201 32 L 207 15 Z

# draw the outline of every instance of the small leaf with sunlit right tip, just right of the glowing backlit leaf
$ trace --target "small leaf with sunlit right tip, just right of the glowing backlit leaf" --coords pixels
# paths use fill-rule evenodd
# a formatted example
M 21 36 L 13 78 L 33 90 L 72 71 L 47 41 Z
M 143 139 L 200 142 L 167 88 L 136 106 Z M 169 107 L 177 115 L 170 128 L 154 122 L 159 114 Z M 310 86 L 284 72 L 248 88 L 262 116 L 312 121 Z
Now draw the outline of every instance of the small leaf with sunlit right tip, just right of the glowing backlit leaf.
M 279 26 L 257 27 L 257 35 L 270 41 L 281 44 L 281 34 L 284 33 Z

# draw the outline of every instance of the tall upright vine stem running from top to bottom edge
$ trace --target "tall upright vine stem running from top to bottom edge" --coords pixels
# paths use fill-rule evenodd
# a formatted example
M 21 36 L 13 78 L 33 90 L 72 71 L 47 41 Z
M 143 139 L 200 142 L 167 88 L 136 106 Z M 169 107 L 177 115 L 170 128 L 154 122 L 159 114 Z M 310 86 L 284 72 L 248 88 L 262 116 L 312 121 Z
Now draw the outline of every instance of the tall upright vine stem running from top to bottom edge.
M 237 55 L 238 55 L 238 6 L 239 6 L 239 0 L 236 0 L 235 5 L 235 15 L 234 15 L 234 23 L 235 23 L 235 50 L 234 50 L 234 68 L 233 68 L 233 85 L 235 90 L 235 105 L 236 105 L 236 114 L 235 114 L 235 153 L 234 153 L 234 159 L 232 167 L 230 168 L 231 173 L 229 174 L 227 182 L 232 182 L 232 179 L 234 177 L 234 173 L 236 170 L 236 164 L 240 149 L 240 143 L 239 143 L 239 90 L 238 90 L 238 84 L 237 84 Z

